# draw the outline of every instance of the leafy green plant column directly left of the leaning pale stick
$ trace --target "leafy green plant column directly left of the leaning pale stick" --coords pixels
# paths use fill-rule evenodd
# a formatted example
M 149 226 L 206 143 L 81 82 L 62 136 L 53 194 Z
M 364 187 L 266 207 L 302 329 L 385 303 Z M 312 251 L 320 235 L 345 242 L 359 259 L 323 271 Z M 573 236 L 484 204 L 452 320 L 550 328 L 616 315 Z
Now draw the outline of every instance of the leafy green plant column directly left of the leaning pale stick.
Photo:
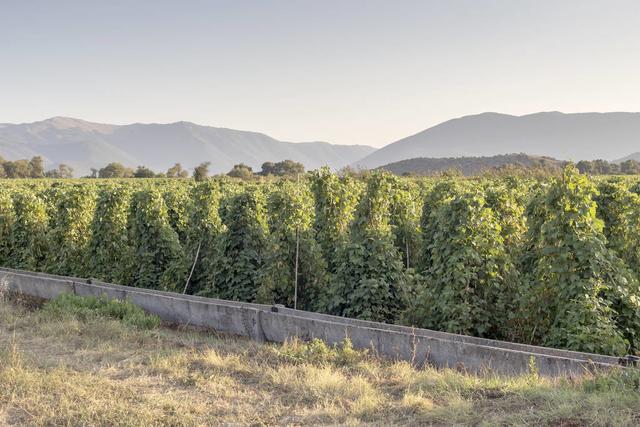
M 182 291 L 186 260 L 167 206 L 155 188 L 134 194 L 129 213 L 130 283 L 143 288 Z

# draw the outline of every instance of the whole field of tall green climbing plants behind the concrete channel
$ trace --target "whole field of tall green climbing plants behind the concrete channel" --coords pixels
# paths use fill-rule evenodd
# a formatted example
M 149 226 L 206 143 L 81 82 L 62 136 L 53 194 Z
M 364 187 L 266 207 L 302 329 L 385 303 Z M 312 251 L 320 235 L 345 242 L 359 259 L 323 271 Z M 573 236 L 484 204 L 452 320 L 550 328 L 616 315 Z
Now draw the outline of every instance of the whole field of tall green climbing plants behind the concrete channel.
M 0 265 L 623 355 L 640 349 L 639 188 L 573 166 L 545 180 L 12 181 Z

